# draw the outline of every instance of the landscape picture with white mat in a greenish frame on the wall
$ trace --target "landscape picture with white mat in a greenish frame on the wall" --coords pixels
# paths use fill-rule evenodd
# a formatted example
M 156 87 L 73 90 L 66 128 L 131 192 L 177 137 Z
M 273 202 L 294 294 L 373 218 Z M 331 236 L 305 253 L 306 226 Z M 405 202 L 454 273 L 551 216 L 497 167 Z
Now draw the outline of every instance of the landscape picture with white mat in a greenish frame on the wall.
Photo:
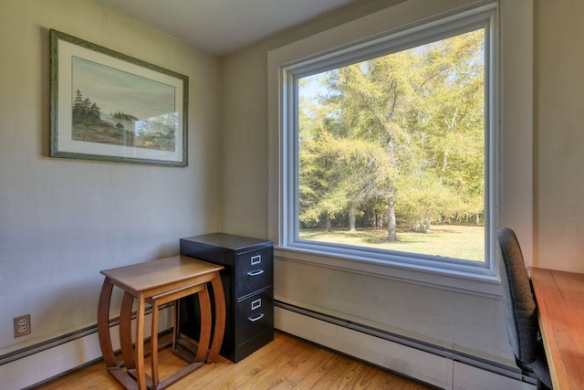
M 188 77 L 49 34 L 51 157 L 187 165 Z

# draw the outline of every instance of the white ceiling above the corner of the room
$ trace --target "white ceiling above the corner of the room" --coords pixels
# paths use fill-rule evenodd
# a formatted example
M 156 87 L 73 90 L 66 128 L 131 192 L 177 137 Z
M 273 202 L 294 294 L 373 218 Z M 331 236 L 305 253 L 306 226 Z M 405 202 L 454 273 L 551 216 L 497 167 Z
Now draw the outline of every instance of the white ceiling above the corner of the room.
M 360 0 L 95 0 L 214 55 Z

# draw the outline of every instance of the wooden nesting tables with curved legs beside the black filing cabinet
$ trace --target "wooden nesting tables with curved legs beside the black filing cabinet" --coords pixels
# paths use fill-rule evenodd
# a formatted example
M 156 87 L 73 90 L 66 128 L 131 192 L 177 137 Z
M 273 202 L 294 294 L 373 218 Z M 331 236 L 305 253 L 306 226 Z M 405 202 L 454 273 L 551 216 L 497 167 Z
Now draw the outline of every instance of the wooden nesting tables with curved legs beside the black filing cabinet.
M 195 258 L 174 256 L 100 271 L 105 280 L 99 295 L 99 346 L 109 373 L 120 385 L 128 389 L 162 389 L 193 373 L 204 363 L 213 363 L 217 359 L 225 327 L 224 290 L 219 276 L 222 269 L 223 266 Z M 213 286 L 214 315 L 207 283 Z M 113 286 L 124 290 L 120 307 L 120 346 L 123 358 L 120 362 L 114 356 L 110 338 L 110 299 Z M 198 295 L 201 306 L 201 333 L 196 347 L 180 337 L 178 326 L 178 300 L 192 294 Z M 131 337 L 131 309 L 134 298 L 138 300 L 135 347 L 132 346 Z M 189 365 L 161 381 L 158 374 L 158 311 L 160 305 L 172 301 L 172 352 Z M 144 312 L 147 303 L 152 306 L 151 376 L 144 372 Z

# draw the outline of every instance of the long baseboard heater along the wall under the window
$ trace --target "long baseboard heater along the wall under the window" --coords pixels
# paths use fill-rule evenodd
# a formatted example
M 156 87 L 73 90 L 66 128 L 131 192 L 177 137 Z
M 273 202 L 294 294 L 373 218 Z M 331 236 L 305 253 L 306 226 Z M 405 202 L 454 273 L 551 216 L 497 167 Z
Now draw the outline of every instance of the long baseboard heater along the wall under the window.
M 276 300 L 276 329 L 443 389 L 533 389 L 515 366 Z

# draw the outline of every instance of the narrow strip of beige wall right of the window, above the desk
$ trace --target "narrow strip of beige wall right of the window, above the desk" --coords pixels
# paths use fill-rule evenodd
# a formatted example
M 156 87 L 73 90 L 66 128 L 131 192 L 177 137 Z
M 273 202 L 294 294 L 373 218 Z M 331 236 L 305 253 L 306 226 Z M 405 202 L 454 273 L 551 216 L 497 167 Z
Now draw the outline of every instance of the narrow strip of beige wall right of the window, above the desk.
M 584 272 L 584 2 L 535 11 L 534 262 Z

